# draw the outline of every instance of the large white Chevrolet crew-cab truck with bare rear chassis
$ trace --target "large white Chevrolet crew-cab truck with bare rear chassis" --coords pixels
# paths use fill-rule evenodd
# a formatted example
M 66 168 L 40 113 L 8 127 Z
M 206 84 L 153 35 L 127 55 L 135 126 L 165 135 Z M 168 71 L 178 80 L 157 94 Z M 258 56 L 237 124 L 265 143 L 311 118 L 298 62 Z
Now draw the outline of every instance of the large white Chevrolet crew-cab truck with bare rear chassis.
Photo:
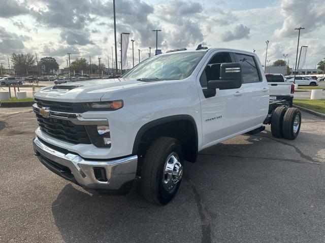
M 295 139 L 301 126 L 298 109 L 269 100 L 254 53 L 201 45 L 148 58 L 118 79 L 43 88 L 35 101 L 35 155 L 49 170 L 106 193 L 127 193 L 141 178 L 144 197 L 162 205 L 202 149 L 263 124 Z

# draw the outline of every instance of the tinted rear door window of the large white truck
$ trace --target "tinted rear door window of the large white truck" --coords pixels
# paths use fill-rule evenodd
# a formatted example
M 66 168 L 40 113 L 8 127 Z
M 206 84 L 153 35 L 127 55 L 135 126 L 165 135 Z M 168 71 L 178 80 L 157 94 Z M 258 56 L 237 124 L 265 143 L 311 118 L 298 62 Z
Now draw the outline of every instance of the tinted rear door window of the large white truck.
M 238 53 L 235 55 L 237 57 L 237 61 L 242 66 L 243 84 L 261 82 L 262 79 L 258 73 L 258 67 L 254 57 Z

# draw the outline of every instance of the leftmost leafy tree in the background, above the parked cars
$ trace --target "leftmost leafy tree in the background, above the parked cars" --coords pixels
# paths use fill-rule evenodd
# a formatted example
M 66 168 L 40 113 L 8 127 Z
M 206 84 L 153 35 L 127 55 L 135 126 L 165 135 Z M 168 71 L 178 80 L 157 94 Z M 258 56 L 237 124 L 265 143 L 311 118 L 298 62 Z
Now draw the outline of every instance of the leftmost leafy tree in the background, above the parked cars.
M 34 56 L 30 53 L 13 53 L 11 62 L 17 75 L 28 75 L 28 70 L 30 70 L 31 67 L 35 64 L 35 59 Z

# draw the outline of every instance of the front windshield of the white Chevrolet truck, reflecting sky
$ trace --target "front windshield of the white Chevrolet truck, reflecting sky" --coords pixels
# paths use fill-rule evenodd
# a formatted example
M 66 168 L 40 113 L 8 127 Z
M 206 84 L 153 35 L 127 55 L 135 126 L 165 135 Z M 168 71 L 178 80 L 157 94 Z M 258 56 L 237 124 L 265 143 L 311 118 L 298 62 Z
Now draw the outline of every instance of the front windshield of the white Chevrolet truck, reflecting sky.
M 122 77 L 135 78 L 143 81 L 156 79 L 183 79 L 196 68 L 206 52 L 185 52 L 149 58 Z

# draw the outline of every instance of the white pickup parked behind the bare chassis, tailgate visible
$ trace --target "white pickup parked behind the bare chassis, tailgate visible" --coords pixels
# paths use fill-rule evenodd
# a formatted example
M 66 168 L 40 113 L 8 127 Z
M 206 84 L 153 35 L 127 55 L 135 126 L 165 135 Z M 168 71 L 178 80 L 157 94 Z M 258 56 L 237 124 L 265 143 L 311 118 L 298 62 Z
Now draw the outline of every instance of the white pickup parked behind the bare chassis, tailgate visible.
M 271 100 L 285 100 L 287 107 L 293 106 L 295 93 L 294 83 L 286 83 L 281 73 L 265 74 L 270 89 Z

